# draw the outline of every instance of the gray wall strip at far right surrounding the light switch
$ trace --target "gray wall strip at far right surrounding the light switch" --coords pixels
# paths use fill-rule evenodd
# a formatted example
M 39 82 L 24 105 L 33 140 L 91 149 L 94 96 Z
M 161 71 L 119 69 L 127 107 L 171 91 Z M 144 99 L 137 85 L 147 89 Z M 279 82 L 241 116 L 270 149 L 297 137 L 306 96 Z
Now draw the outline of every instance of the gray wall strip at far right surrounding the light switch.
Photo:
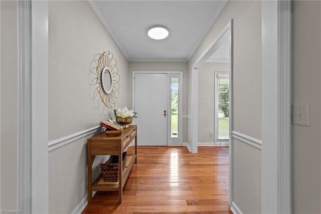
M 321 213 L 320 38 L 321 2 L 293 1 L 293 103 L 310 104 L 310 126 L 293 125 L 294 213 Z

